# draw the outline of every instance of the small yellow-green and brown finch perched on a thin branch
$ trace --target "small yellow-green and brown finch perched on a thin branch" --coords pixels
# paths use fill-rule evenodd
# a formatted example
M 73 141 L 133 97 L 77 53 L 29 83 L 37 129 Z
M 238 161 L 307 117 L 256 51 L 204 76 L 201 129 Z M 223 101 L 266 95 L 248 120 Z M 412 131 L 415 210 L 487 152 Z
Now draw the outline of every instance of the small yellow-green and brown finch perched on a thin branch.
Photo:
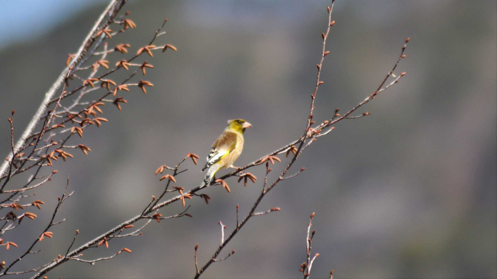
M 200 188 L 210 186 L 218 170 L 237 168 L 233 166 L 233 163 L 242 154 L 244 132 L 250 127 L 252 125 L 243 119 L 228 120 L 228 127 L 224 129 L 223 134 L 212 144 L 212 149 L 207 156 L 207 162 L 202 168 L 202 172 L 206 169 L 208 170 Z

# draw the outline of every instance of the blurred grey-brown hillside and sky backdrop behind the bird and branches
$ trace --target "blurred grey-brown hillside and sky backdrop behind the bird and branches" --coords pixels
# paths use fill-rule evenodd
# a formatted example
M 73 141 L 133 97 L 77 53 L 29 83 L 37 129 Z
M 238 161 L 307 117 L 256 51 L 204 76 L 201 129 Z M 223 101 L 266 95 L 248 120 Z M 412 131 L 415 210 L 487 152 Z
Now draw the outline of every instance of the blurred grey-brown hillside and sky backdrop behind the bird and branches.
M 17 139 L 105 4 L 0 3 L 2 156 L 9 148 L 10 111 L 17 111 Z M 37 244 L 42 253 L 11 271 L 64 254 L 76 229 L 81 245 L 138 214 L 165 185 L 155 169 L 174 165 L 187 152 L 200 155 L 203 164 L 227 119 L 253 125 L 237 165 L 297 139 L 329 4 L 129 1 L 123 10 L 131 11 L 138 27 L 115 36 L 109 46 L 130 43 L 130 53 L 108 59 L 133 55 L 164 17 L 167 34 L 157 44 L 170 43 L 178 51 L 144 58 L 156 67 L 144 78 L 155 87 L 147 95 L 136 88 L 124 92 L 129 103 L 122 112 L 105 105 L 103 116 L 110 122 L 72 139 L 92 151 L 88 156 L 74 151 L 74 159 L 55 164 L 56 178 L 36 191 L 36 199 L 46 202 L 34 211 L 39 218 L 6 234 L 19 248 L 1 249 L 2 260 L 20 256 L 28 240 L 39 236 L 67 174 L 76 194 L 58 219 L 68 221 L 53 229 L 53 239 Z M 335 108 L 345 111 L 371 94 L 411 37 L 407 58 L 396 70 L 407 75 L 359 110 L 371 116 L 340 122 L 307 149 L 294 171 L 307 170 L 279 184 L 259 206 L 282 211 L 252 218 L 222 255 L 237 253 L 203 277 L 300 278 L 309 215 L 316 211 L 313 251 L 321 256 L 313 278 L 325 278 L 331 269 L 336 278 L 496 278 L 496 9 L 496 1 L 336 1 L 315 119 L 330 118 Z M 274 167 L 271 180 L 283 165 Z M 185 166 L 189 171 L 177 184 L 198 186 L 201 166 Z M 108 250 L 90 249 L 83 258 L 109 256 L 122 247 L 132 254 L 95 266 L 66 263 L 49 278 L 193 277 L 195 243 L 203 265 L 220 242 L 217 222 L 230 231 L 236 205 L 246 214 L 259 195 L 264 169 L 250 172 L 256 184 L 243 187 L 231 178 L 231 194 L 216 186 L 204 191 L 212 198 L 209 205 L 188 200 L 193 218 L 153 222 L 142 237 L 112 241 Z M 182 209 L 175 203 L 161 213 Z

